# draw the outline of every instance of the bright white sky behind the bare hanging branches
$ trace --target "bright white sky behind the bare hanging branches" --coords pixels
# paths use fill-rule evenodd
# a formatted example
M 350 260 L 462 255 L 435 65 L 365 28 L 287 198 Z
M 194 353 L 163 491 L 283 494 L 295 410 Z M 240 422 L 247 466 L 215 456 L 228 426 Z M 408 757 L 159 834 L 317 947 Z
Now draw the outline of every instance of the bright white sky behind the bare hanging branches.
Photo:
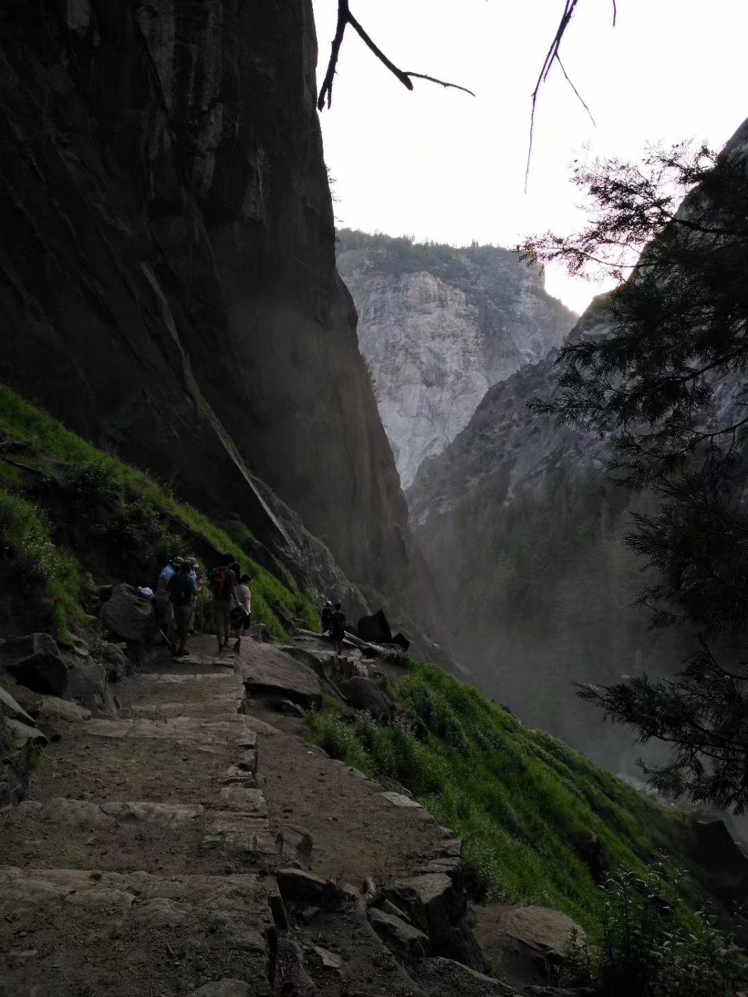
M 561 60 L 592 125 L 554 68 L 536 116 L 524 192 L 530 94 L 562 0 L 351 0 L 351 10 L 401 69 L 450 80 L 409 93 L 348 28 L 332 108 L 321 114 L 339 223 L 462 245 L 515 245 L 578 225 L 568 182 L 576 157 L 635 159 L 647 143 L 691 138 L 721 146 L 748 117 L 745 0 L 580 0 Z M 314 0 L 321 80 L 336 0 Z M 576 311 L 600 287 L 550 272 Z

